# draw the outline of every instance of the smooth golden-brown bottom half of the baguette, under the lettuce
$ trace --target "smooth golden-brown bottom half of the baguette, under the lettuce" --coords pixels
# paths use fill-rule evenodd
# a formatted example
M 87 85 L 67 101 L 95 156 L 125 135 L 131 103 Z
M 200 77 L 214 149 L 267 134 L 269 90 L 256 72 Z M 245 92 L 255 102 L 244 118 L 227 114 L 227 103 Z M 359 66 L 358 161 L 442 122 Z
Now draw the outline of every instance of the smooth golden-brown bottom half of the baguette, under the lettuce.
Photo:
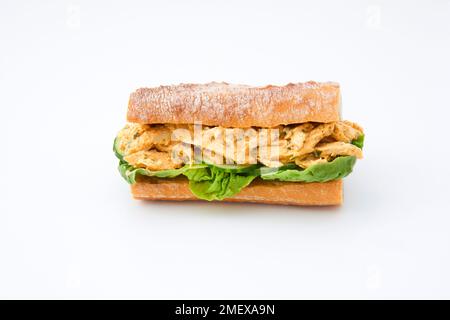
M 139 177 L 131 185 L 131 192 L 135 199 L 140 200 L 200 200 L 189 190 L 189 181 L 185 177 Z M 256 179 L 237 195 L 224 201 L 327 206 L 339 205 L 342 200 L 342 180 L 299 183 Z

